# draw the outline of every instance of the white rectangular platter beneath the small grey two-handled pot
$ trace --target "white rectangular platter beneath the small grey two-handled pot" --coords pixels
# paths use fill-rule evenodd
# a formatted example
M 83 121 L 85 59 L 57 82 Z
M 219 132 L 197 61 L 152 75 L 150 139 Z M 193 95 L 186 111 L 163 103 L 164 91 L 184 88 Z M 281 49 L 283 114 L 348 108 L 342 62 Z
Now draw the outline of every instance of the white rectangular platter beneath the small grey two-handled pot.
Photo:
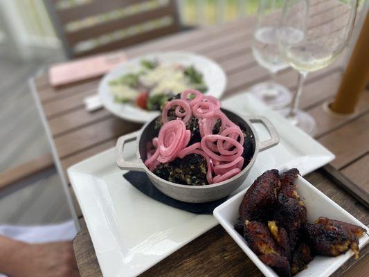
M 250 186 L 265 170 L 296 167 L 305 175 L 334 159 L 323 145 L 251 94 L 242 93 L 222 102 L 223 107 L 238 114 L 266 116 L 280 134 L 280 143 L 258 154 L 246 181 L 232 195 Z M 263 128 L 255 125 L 260 139 L 268 136 Z M 134 157 L 135 147 L 127 147 L 126 158 Z M 141 274 L 217 225 L 213 215 L 188 213 L 147 197 L 122 177 L 125 172 L 116 166 L 114 148 L 68 170 L 106 277 Z

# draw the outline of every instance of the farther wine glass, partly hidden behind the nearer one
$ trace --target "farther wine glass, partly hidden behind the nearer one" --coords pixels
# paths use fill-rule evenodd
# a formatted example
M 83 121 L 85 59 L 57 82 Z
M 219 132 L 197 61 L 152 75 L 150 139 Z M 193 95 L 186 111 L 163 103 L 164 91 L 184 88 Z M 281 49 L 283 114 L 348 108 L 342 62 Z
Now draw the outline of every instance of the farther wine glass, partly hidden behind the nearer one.
M 255 60 L 271 73 L 271 80 L 255 84 L 249 91 L 273 109 L 286 107 L 292 99 L 291 91 L 274 81 L 276 73 L 289 66 L 282 60 L 278 51 L 277 28 L 282 3 L 283 1 L 278 0 L 259 2 L 252 43 Z

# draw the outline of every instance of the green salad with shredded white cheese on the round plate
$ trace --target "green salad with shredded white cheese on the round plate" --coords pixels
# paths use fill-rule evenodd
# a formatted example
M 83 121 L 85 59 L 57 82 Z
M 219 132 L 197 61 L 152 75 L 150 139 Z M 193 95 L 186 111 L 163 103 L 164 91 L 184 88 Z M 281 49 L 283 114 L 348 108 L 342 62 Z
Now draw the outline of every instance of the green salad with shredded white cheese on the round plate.
M 160 110 L 172 96 L 186 89 L 208 90 L 203 75 L 194 66 L 141 60 L 136 73 L 109 81 L 115 102 L 130 103 L 147 110 Z

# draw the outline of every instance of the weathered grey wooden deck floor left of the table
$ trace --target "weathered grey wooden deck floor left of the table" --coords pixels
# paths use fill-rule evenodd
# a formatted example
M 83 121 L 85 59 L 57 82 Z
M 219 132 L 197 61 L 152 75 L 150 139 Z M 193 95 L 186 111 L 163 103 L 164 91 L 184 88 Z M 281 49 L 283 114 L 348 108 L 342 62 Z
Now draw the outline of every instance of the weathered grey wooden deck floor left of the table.
M 0 47 L 0 172 L 50 152 L 28 78 L 61 53 L 37 60 L 11 60 Z M 42 224 L 71 218 L 60 177 L 47 170 L 0 193 L 0 224 Z

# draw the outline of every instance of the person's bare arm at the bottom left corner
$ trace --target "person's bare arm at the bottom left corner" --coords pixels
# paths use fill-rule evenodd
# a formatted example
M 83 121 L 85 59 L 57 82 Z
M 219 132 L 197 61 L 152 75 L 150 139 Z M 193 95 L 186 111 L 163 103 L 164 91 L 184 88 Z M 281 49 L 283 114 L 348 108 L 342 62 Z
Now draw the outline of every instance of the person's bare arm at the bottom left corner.
M 0 272 L 10 277 L 78 277 L 72 242 L 28 244 L 0 235 Z

